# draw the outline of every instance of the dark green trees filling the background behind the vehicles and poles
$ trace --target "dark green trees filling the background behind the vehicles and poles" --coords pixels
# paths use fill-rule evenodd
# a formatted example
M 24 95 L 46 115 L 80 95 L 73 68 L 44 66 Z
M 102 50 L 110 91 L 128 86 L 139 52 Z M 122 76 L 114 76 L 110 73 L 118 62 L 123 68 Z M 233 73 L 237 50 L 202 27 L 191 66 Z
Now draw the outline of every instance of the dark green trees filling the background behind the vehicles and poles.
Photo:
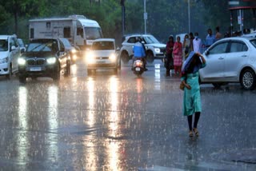
M 28 38 L 28 20 L 31 18 L 65 17 L 82 14 L 97 20 L 105 38 L 122 38 L 122 7 L 120 0 L 0 0 L 0 34 L 18 34 Z M 125 34 L 144 33 L 143 0 L 126 0 Z M 188 5 L 190 5 L 190 28 L 205 38 L 206 30 L 220 26 L 222 33 L 229 30 L 230 11 L 227 1 L 219 0 L 146 0 L 147 33 L 166 42 L 170 34 L 189 32 Z M 251 11 L 245 13 L 245 26 L 255 26 Z M 247 18 L 247 16 L 249 16 Z M 234 14 L 234 18 L 237 17 Z M 252 22 L 251 22 L 252 21 Z M 234 19 L 234 28 L 237 20 Z

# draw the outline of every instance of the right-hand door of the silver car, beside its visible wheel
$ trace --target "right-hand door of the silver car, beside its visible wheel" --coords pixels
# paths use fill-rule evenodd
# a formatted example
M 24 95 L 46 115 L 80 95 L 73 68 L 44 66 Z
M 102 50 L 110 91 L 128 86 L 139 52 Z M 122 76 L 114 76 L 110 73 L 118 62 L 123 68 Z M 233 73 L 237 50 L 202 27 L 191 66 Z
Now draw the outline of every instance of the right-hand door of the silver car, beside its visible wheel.
M 242 41 L 231 41 L 228 53 L 224 59 L 224 77 L 226 81 L 238 81 L 239 71 L 249 56 L 248 46 Z

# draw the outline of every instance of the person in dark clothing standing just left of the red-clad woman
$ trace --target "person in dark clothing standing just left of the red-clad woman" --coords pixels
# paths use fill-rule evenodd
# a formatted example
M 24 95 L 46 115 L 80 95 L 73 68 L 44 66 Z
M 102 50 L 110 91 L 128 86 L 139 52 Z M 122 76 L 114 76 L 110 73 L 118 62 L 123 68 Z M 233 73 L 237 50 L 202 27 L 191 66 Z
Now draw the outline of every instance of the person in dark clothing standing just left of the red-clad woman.
M 170 70 L 174 67 L 174 59 L 173 59 L 173 48 L 174 48 L 174 37 L 172 35 L 169 36 L 169 41 L 166 43 L 166 77 L 170 76 Z

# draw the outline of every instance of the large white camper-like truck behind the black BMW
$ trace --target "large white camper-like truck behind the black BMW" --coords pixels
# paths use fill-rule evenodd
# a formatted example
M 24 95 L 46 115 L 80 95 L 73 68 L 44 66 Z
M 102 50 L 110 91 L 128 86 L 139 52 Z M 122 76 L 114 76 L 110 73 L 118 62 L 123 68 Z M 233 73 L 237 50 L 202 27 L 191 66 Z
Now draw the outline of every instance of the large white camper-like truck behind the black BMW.
M 67 18 L 40 18 L 29 20 L 29 37 L 67 38 L 79 50 L 86 50 L 95 39 L 103 38 L 98 22 L 83 15 Z

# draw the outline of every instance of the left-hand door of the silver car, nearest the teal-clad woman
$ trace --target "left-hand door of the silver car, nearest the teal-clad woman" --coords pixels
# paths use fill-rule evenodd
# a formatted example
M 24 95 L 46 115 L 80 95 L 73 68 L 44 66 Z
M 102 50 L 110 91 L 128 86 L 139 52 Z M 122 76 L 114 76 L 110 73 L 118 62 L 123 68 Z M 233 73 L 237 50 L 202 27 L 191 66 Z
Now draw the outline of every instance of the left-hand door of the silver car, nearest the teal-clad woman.
M 219 42 L 206 50 L 204 56 L 206 58 L 206 67 L 200 70 L 202 82 L 218 82 L 224 76 L 224 59 L 229 42 Z

